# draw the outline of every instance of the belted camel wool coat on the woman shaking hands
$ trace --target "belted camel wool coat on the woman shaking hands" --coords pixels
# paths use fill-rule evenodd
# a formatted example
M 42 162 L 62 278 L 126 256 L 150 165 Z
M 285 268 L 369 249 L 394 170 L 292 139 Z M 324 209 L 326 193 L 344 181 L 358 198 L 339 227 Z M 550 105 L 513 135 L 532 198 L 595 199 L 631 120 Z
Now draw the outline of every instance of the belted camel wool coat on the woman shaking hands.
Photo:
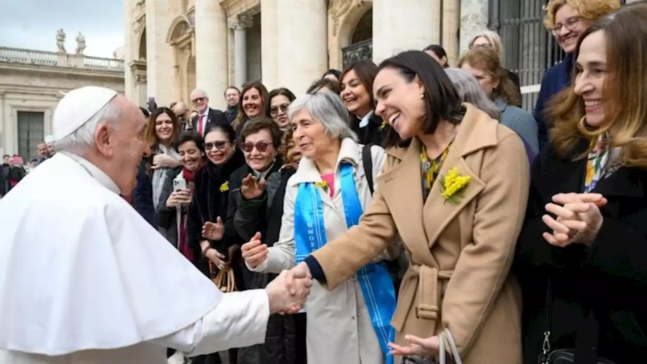
M 510 273 L 529 190 L 529 165 L 514 131 L 465 104 L 446 160 L 422 201 L 421 147 L 387 151 L 377 190 L 360 223 L 313 253 L 334 289 L 400 235 L 410 259 L 391 324 L 429 337 L 451 330 L 466 364 L 521 363 L 521 293 Z M 471 176 L 457 203 L 440 176 Z M 397 362 L 397 361 L 396 361 Z

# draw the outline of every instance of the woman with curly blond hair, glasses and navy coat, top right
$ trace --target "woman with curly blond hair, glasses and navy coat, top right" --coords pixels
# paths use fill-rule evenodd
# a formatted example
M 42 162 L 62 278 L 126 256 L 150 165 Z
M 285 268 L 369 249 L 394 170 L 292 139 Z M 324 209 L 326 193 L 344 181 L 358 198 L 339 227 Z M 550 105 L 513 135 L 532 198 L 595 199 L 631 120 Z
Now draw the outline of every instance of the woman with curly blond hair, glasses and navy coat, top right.
M 534 119 L 537 120 L 541 150 L 548 142 L 547 120 L 544 119 L 545 108 L 556 93 L 571 84 L 572 54 L 580 34 L 593 21 L 616 10 L 619 6 L 620 1 L 618 0 L 551 0 L 545 6 L 546 14 L 543 23 L 553 33 L 555 41 L 566 53 L 566 57 L 543 75 L 542 88 L 534 107 Z

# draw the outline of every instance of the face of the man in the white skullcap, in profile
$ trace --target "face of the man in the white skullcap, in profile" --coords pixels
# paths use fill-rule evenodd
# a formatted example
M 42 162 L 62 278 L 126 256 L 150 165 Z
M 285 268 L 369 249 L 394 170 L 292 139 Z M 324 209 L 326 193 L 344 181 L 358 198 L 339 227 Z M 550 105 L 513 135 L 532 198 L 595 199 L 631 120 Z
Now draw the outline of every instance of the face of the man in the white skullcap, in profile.
M 122 194 L 130 194 L 135 189 L 135 179 L 142 157 L 151 153 L 148 144 L 144 141 L 146 119 L 142 111 L 126 98 L 119 96 L 115 102 L 120 105 L 122 115 L 115 127 L 109 128 L 111 154 L 109 176 Z

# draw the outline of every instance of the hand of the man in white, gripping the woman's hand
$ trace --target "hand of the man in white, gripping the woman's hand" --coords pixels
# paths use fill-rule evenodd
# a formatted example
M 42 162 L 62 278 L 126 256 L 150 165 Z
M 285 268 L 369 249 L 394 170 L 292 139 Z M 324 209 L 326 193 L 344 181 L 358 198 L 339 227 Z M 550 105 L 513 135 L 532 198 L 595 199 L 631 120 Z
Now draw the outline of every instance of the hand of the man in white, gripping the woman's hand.
M 285 284 L 285 277 L 287 277 L 288 271 L 282 271 L 265 288 L 265 292 L 267 292 L 267 297 L 270 301 L 270 313 L 294 313 L 299 312 L 303 308 L 305 299 L 310 294 L 310 287 L 313 285 L 313 281 L 308 275 L 298 275 L 296 273 L 291 273 L 291 279 L 294 283 L 294 293 L 291 293 Z

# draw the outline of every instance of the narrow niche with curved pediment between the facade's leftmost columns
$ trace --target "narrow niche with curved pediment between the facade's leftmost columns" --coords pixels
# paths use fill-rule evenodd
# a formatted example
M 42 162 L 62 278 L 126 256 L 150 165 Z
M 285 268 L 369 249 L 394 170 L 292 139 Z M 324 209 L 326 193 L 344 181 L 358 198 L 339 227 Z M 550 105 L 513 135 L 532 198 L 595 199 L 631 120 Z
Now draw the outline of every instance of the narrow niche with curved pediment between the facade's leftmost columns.
M 188 17 L 178 16 L 171 21 L 166 43 L 173 47 L 174 100 L 189 104 L 189 95 L 195 87 L 195 51 L 193 26 Z

